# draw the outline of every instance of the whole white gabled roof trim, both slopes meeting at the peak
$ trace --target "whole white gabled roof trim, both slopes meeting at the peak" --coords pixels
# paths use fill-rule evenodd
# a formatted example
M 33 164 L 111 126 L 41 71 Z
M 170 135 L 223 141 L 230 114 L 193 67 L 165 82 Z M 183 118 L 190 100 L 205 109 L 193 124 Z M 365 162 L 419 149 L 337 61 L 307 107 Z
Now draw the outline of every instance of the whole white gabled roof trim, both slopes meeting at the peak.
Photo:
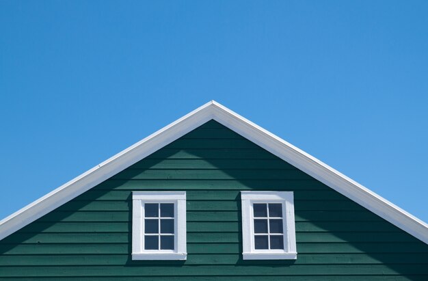
M 273 155 L 294 165 L 296 168 L 306 172 L 306 174 L 321 181 L 321 183 L 342 193 L 347 198 L 428 244 L 428 224 L 215 101 L 210 101 L 202 105 L 202 107 L 191 111 L 163 129 L 149 135 L 103 163 L 96 165 L 88 172 L 77 176 L 77 178 L 70 180 L 68 183 L 1 220 L 0 240 L 211 119 L 239 133 L 258 146 L 273 153 Z

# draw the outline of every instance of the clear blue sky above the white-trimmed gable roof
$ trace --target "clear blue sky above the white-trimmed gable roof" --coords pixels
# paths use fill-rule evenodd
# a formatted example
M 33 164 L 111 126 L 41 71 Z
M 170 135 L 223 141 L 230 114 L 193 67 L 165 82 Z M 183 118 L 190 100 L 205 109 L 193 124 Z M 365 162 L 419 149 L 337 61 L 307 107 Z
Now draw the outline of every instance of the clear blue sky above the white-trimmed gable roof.
M 0 1 L 0 217 L 215 100 L 428 222 L 428 1 Z

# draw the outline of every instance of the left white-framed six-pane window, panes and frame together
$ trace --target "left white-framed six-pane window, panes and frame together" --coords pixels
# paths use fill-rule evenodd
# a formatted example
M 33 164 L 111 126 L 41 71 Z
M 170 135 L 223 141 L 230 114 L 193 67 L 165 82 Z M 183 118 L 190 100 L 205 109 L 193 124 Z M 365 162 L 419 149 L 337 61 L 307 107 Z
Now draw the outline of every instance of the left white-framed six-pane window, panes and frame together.
M 185 260 L 186 192 L 134 191 L 133 260 Z

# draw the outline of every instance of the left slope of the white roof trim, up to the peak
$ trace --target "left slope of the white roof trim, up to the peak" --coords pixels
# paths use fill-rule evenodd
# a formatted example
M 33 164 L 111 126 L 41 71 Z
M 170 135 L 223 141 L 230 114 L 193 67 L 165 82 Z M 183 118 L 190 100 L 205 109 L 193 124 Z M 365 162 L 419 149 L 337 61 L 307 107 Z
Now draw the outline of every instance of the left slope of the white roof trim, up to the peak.
M 113 157 L 57 187 L 57 189 L 31 202 L 12 213 L 12 215 L 5 217 L 0 221 L 0 240 L 211 120 L 212 105 L 213 101 L 210 101 L 198 107 L 198 109 L 187 113 L 182 118 L 113 155 Z

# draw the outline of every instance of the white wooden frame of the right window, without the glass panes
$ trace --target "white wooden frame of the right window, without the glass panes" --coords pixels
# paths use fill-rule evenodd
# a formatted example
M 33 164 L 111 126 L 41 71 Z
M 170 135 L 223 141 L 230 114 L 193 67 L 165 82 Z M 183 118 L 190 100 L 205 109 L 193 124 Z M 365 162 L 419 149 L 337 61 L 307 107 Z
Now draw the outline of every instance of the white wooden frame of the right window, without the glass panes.
M 282 204 L 284 250 L 255 249 L 254 203 Z M 242 257 L 244 260 L 292 260 L 297 258 L 293 191 L 241 191 L 241 210 L 243 239 Z

